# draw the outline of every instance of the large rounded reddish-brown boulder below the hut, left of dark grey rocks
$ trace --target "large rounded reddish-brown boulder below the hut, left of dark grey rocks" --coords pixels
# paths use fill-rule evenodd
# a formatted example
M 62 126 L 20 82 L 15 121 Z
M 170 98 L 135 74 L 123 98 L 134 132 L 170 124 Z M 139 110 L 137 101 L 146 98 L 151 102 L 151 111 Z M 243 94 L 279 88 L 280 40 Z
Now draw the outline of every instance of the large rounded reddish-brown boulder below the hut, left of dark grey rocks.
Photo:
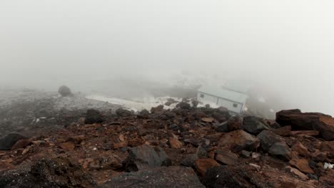
M 248 134 L 243 130 L 235 130 L 228 132 L 226 135 L 221 137 L 218 142 L 218 147 L 233 152 L 240 152 L 241 150 L 256 150 L 260 145 L 260 141 L 257 137 Z

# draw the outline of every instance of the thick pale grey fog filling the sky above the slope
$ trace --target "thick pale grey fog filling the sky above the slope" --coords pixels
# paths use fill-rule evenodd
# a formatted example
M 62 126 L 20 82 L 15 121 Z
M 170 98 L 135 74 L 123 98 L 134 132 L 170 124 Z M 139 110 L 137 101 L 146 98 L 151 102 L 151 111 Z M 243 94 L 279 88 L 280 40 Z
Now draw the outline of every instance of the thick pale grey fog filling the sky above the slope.
M 310 0 L 1 0 L 0 85 L 247 80 L 283 108 L 334 115 L 333 8 Z

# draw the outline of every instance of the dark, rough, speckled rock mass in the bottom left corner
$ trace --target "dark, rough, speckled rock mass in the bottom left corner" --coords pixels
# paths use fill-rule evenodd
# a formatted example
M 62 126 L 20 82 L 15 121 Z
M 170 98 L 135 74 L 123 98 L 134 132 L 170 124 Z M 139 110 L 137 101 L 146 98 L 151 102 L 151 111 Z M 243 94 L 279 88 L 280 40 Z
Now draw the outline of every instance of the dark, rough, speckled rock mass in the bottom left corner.
M 96 182 L 79 164 L 64 157 L 43 159 L 31 167 L 0 175 L 0 187 L 95 187 Z

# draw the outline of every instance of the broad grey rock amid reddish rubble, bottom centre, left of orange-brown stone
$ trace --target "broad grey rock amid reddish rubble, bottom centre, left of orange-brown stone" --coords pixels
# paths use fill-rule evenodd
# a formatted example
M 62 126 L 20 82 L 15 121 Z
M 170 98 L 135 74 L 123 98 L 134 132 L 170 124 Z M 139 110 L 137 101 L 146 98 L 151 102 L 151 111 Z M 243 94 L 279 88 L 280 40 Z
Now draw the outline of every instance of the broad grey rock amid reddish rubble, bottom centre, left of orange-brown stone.
M 133 172 L 151 167 L 170 166 L 171 160 L 161 147 L 141 145 L 131 149 L 123 164 L 126 172 Z

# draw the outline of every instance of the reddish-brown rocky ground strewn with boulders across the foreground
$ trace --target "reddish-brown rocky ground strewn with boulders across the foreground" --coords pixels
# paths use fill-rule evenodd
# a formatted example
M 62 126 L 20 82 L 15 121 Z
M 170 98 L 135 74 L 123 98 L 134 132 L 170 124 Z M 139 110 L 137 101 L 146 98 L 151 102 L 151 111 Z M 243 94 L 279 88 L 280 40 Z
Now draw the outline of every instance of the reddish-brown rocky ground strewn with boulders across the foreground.
M 51 101 L 59 100 L 76 103 Z M 328 115 L 283 110 L 264 120 L 188 101 L 140 113 L 85 105 L 61 116 L 64 108 L 31 101 L 12 111 L 1 105 L 1 119 L 17 123 L 20 113 L 28 114 L 22 128 L 34 118 L 58 121 L 26 130 L 43 133 L 36 135 L 1 122 L 0 187 L 334 187 Z M 59 126 L 50 131 L 52 125 Z

